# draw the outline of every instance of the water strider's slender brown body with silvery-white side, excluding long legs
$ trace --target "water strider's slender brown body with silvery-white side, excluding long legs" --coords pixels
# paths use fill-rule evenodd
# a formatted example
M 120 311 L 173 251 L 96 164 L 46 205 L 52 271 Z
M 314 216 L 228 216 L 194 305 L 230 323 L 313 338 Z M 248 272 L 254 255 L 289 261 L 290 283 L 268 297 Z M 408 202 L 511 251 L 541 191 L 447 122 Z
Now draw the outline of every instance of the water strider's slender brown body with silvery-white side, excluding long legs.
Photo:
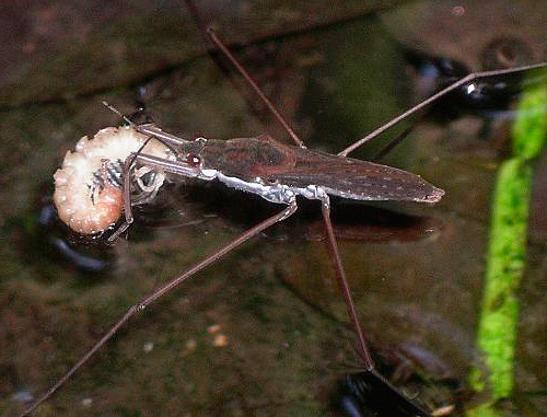
M 267 135 L 256 138 L 186 141 L 153 125 L 136 130 L 170 143 L 176 162 L 147 160 L 167 172 L 219 179 L 272 202 L 290 204 L 296 195 L 328 201 L 327 195 L 357 200 L 437 202 L 444 192 L 419 175 L 368 161 L 283 144 Z

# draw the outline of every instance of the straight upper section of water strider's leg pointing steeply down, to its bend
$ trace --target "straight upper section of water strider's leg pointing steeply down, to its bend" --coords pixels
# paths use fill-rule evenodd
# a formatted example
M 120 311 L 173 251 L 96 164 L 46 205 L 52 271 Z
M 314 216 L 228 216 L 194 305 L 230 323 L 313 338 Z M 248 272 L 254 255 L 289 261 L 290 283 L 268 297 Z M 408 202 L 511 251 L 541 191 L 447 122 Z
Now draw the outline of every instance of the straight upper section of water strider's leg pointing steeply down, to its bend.
M 346 300 L 346 306 L 348 308 L 348 315 L 351 320 L 351 325 L 356 332 L 357 339 L 359 343 L 359 352 L 363 360 L 363 367 L 368 371 L 374 369 L 374 362 L 372 361 L 371 354 L 364 337 L 361 324 L 359 322 L 359 316 L 356 311 L 356 303 L 351 296 L 351 290 L 348 285 L 348 278 L 346 276 L 346 270 L 344 269 L 344 264 L 341 262 L 340 252 L 338 251 L 338 243 L 336 242 L 335 232 L 333 229 L 333 222 L 330 221 L 330 205 L 328 200 L 322 202 L 323 219 L 325 221 L 325 230 L 327 233 L 327 241 L 330 246 L 330 252 L 333 253 L 333 258 L 336 266 L 336 276 L 338 277 L 338 285 Z

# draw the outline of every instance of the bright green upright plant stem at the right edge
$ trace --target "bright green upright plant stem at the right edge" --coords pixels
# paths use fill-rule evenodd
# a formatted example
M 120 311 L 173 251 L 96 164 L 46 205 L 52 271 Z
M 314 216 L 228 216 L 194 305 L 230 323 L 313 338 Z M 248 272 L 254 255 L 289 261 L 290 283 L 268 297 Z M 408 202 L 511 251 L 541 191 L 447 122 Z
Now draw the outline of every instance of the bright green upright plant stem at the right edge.
M 473 368 L 469 385 L 487 394 L 468 412 L 473 416 L 497 415 L 499 399 L 513 389 L 513 360 L 519 321 L 516 291 L 526 267 L 526 236 L 533 169 L 547 135 L 547 86 L 526 92 L 513 127 L 513 158 L 499 170 L 491 216 L 485 292 L 477 346 L 482 363 Z

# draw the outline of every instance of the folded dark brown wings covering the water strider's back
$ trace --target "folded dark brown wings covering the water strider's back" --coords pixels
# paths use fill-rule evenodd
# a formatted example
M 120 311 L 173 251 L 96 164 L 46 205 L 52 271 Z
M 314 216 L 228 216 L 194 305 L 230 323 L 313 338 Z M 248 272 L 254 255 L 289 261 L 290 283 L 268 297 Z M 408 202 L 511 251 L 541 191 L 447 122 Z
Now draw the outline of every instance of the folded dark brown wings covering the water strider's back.
M 444 194 L 403 170 L 282 144 L 268 136 L 209 140 L 202 155 L 207 165 L 224 175 L 295 188 L 316 185 L 330 195 L 358 200 L 435 202 Z

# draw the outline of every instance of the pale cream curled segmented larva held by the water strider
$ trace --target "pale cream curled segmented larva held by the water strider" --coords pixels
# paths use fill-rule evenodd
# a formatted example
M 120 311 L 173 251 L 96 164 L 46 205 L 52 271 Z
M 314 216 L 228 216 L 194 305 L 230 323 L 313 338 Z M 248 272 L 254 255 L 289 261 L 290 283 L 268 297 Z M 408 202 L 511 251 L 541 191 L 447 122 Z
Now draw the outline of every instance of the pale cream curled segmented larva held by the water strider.
M 116 223 L 124 209 L 121 166 L 148 138 L 131 127 L 107 127 L 93 139 L 81 138 L 75 150 L 67 152 L 62 166 L 54 174 L 54 200 L 59 218 L 82 234 L 102 232 Z M 147 143 L 142 153 L 172 158 L 170 150 L 155 139 Z M 113 164 L 119 167 L 118 174 L 108 171 Z M 164 179 L 163 172 L 156 172 L 153 193 Z M 150 193 L 150 186 L 146 190 Z

